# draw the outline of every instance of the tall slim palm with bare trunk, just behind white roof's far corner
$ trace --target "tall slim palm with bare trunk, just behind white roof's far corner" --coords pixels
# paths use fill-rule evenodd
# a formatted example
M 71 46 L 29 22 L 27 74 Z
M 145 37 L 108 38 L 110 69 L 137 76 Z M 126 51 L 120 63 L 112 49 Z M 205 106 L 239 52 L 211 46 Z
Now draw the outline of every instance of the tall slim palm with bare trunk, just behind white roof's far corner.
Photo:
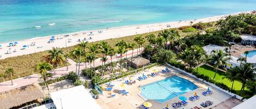
M 84 54 L 84 50 L 81 47 L 77 47 L 74 50 L 72 50 L 72 55 L 75 56 L 76 60 L 78 61 L 78 64 L 76 63 L 76 67 L 78 66 L 78 71 L 76 70 L 76 73 L 78 73 L 78 76 L 76 77 L 76 80 L 78 80 L 78 77 L 79 77 L 81 56 L 83 54 Z

